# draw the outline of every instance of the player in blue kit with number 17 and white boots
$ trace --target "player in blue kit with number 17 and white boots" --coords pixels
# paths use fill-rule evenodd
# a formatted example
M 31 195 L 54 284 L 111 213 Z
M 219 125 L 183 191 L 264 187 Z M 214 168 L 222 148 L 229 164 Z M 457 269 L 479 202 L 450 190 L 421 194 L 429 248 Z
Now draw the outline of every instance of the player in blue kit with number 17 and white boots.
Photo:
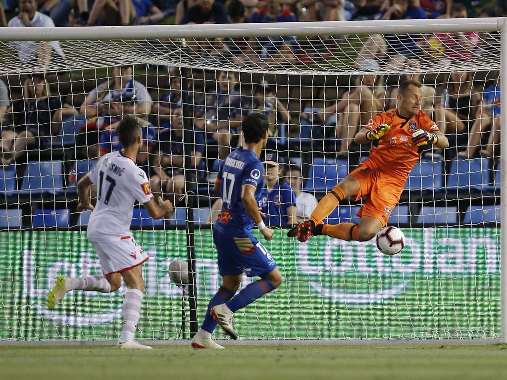
M 262 221 L 257 202 L 263 186 L 263 164 L 259 159 L 268 141 L 269 121 L 261 113 L 248 115 L 241 124 L 244 144 L 225 159 L 213 190 L 222 197 L 222 212 L 213 229 L 222 286 L 209 301 L 201 329 L 192 339 L 194 348 L 223 349 L 211 340 L 216 324 L 233 339 L 233 314 L 257 298 L 275 290 L 282 282 L 280 270 L 266 248 L 252 236 L 256 223 L 266 240 L 273 231 Z M 243 272 L 260 280 L 236 294 Z

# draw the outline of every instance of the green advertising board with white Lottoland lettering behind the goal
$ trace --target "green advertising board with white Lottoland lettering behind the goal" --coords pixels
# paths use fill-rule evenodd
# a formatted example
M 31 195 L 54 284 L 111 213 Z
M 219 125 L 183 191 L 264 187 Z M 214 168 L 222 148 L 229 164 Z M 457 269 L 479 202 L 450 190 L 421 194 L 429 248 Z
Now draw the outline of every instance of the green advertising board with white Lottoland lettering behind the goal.
M 236 313 L 245 339 L 499 337 L 499 229 L 405 229 L 406 246 L 395 256 L 373 240 L 300 244 L 285 233 L 261 240 L 284 281 Z M 182 293 L 168 266 L 187 257 L 185 231 L 133 236 L 150 256 L 136 337 L 177 338 Z M 196 231 L 195 251 L 201 321 L 220 286 L 211 230 Z M 58 275 L 99 273 L 84 232 L 0 232 L 0 339 L 117 339 L 124 286 L 111 294 L 73 291 L 55 310 L 46 307 Z

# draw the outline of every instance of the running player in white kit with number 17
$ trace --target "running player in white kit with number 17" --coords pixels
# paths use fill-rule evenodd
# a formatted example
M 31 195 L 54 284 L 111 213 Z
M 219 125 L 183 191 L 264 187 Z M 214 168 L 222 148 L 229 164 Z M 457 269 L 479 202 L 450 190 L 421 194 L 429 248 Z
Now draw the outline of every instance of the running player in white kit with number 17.
M 137 122 L 131 118 L 123 119 L 117 132 L 123 148 L 102 156 L 78 183 L 78 211 L 93 210 L 87 235 L 100 260 L 104 276 L 59 276 L 48 295 L 48 308 L 54 309 L 70 290 L 113 292 L 121 286 L 123 277 L 128 290 L 123 301 L 123 328 L 118 347 L 151 349 L 134 340 L 144 290 L 141 264 L 148 260 L 148 255 L 135 242 L 129 226 L 136 200 L 155 219 L 172 212 L 172 204 L 162 201 L 160 197 L 158 204 L 155 202 L 149 179 L 135 165 L 134 160 L 142 146 L 142 132 Z M 92 184 L 97 185 L 95 208 L 89 198 Z

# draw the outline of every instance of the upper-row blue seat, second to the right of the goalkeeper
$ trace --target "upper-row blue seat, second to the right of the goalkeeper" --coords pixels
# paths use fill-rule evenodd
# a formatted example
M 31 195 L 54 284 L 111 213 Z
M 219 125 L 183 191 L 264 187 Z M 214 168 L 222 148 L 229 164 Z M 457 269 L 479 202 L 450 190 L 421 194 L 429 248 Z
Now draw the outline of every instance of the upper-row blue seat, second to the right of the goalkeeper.
M 488 159 L 453 160 L 447 179 L 448 188 L 481 189 L 489 185 Z

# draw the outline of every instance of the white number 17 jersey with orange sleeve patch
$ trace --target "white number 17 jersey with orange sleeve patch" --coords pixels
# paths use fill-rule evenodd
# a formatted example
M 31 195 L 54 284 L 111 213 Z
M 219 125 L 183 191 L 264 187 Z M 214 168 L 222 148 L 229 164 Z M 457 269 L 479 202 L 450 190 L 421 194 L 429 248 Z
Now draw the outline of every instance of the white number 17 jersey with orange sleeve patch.
M 154 199 L 146 173 L 121 151 L 108 153 L 88 173 L 97 185 L 97 205 L 88 222 L 88 240 L 118 241 L 130 236 L 134 202 Z

